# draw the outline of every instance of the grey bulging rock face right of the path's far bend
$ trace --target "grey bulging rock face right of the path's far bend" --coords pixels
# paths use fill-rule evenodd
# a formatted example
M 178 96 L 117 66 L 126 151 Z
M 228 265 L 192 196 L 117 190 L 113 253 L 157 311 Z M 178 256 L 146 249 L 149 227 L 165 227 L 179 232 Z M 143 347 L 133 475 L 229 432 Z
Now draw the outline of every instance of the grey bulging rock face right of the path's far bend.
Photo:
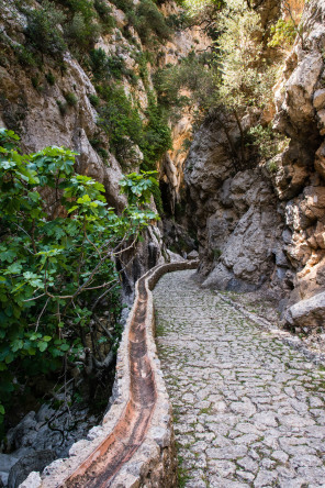
M 283 224 L 267 173 L 237 171 L 214 122 L 201 129 L 187 160 L 186 182 L 198 226 L 203 286 L 255 290 L 285 277 Z M 232 136 L 239 137 L 233 126 Z

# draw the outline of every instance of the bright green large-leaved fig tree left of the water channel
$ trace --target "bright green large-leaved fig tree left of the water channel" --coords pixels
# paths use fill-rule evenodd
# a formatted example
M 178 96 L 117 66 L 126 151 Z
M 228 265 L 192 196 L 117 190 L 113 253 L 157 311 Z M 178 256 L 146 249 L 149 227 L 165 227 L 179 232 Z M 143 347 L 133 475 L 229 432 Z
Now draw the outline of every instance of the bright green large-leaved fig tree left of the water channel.
M 1 418 L 12 393 L 31 377 L 68 363 L 83 367 L 87 336 L 100 361 L 90 319 L 103 292 L 110 313 L 119 313 L 114 256 L 156 218 L 146 208 L 150 175 L 123 179 L 132 199 L 119 217 L 108 207 L 103 186 L 75 173 L 76 153 L 46 147 L 22 155 L 18 143 L 12 131 L 0 130 Z M 57 217 L 53 206 L 60 209 Z

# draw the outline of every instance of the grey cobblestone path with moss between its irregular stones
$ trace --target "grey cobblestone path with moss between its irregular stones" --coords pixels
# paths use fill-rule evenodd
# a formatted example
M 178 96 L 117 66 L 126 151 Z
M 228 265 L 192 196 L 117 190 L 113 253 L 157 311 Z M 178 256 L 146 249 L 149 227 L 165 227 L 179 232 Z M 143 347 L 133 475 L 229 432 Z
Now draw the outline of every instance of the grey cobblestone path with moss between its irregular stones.
M 165 275 L 154 291 L 179 486 L 324 488 L 324 371 L 192 274 Z

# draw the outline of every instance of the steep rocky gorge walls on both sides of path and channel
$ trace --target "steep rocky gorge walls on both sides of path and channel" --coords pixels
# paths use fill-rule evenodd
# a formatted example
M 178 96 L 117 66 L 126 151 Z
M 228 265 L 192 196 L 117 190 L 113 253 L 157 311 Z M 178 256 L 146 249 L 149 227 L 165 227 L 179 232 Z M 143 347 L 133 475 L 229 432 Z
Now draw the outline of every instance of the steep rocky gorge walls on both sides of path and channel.
M 58 7 L 69 19 L 75 3 L 31 0 L 27 10 Z M 186 22 L 187 2 L 157 2 L 154 11 L 153 2 L 143 7 L 138 1 L 86 3 L 99 9 L 94 26 L 103 12 L 110 16 L 110 26 L 98 32 L 83 49 L 78 46 L 78 31 L 76 41 L 72 31 L 58 25 L 58 32 L 69 40 L 58 62 L 42 52 L 35 40 L 31 42 L 26 5 L 0 0 L 0 125 L 19 133 L 25 153 L 51 145 L 78 153 L 76 171 L 104 186 L 107 201 L 116 213 L 126 206 L 119 189 L 123 174 L 157 170 L 160 191 L 150 207 L 159 210 L 161 221 L 152 222 L 136 247 L 116 260 L 124 306 L 132 303 L 135 284 L 145 271 L 199 254 L 197 279 L 202 288 L 271 300 L 283 326 L 315 335 L 324 347 L 325 2 L 311 0 L 303 12 L 301 1 L 247 2 L 260 18 L 261 56 L 267 53 L 278 71 L 270 104 L 264 109 L 254 103 L 242 107 L 239 121 L 237 112 L 225 106 L 203 110 L 200 101 L 191 98 L 198 87 L 181 82 L 182 103 L 169 102 L 171 110 L 169 107 L 166 113 L 164 103 L 164 110 L 159 109 L 159 100 L 168 91 L 157 82 L 160 70 L 214 53 L 209 19 L 203 15 Z M 101 10 L 102 4 L 109 10 Z M 142 8 L 152 12 L 155 22 L 159 12 L 159 22 L 168 33 L 159 31 L 159 23 L 146 37 L 145 24 L 138 26 L 133 18 L 144 16 Z M 265 38 L 270 38 L 271 25 L 279 19 L 288 20 L 288 9 L 298 12 L 300 21 L 294 40 L 283 52 L 269 49 Z M 75 26 L 80 21 L 76 12 L 70 19 Z M 161 19 L 168 21 L 166 25 Z M 204 62 L 203 68 L 210 63 Z M 111 89 L 108 93 L 105 86 Z M 176 117 L 173 112 L 180 113 Z M 250 130 L 260 125 L 271 126 L 271 137 L 278 134 L 277 154 L 265 156 L 258 142 L 251 143 Z M 137 137 L 142 126 L 146 127 L 148 146 Z M 157 151 L 149 158 L 148 147 L 154 146 Z M 58 200 L 52 204 L 51 192 L 44 199 L 52 206 L 52 214 L 59 215 Z M 125 308 L 124 323 L 127 311 Z M 2 445 L 3 463 L 0 459 L 4 486 L 8 479 L 8 486 L 19 486 L 25 477 L 16 476 L 19 470 L 27 475 L 43 469 L 56 456 L 66 456 L 71 444 L 99 422 L 100 415 L 91 415 L 87 408 L 71 410 L 72 420 L 67 409 L 58 430 L 48 422 L 57 412 L 47 404 L 30 412 L 16 426 L 10 425 Z M 88 415 L 89 420 L 70 433 L 74 415 Z M 69 433 L 61 440 L 64 422 Z M 32 458 L 40 446 L 43 467 L 32 466 L 30 459 L 26 470 L 21 464 L 10 472 L 18 459 Z

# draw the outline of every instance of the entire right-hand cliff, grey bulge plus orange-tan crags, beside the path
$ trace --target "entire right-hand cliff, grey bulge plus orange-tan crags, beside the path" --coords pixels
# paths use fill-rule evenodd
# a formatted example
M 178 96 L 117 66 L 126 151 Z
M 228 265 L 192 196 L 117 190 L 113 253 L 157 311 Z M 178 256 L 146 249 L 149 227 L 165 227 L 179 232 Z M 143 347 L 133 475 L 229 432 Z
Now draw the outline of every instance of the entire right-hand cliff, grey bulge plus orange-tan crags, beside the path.
M 274 130 L 290 137 L 277 171 L 237 171 L 217 121 L 197 134 L 186 163 L 204 286 L 262 287 L 283 306 L 325 288 L 325 2 L 313 0 L 274 88 Z M 248 124 L 249 121 L 244 121 Z M 231 126 L 234 141 L 239 140 Z

